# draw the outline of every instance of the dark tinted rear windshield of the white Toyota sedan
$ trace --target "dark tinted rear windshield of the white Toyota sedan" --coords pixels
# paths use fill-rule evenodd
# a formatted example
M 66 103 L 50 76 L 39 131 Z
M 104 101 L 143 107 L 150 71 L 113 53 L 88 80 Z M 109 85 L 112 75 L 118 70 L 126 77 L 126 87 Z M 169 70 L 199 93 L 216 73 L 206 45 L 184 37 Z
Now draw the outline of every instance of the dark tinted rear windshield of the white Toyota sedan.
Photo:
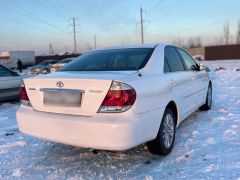
M 80 56 L 60 71 L 128 71 L 142 69 L 153 48 L 116 49 L 90 52 Z

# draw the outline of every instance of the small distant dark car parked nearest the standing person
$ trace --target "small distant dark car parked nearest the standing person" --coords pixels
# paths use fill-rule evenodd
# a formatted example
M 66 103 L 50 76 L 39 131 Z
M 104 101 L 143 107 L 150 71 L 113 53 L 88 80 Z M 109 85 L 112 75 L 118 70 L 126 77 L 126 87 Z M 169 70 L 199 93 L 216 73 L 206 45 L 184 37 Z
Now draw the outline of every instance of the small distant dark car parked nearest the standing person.
M 39 63 L 38 65 L 33 66 L 31 68 L 31 72 L 33 74 L 48 74 L 48 73 L 50 73 L 51 65 L 53 65 L 57 62 L 58 62 L 57 60 L 45 60 L 45 61 Z

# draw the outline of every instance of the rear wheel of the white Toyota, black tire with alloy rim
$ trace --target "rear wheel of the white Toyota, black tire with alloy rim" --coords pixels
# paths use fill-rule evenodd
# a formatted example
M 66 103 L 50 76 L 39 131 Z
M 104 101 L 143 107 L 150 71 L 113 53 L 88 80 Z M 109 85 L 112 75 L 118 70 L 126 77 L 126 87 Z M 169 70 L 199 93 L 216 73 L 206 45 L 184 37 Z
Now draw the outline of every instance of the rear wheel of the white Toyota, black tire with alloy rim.
M 176 117 L 172 109 L 167 108 L 164 112 L 157 137 L 147 143 L 151 153 L 156 155 L 168 155 L 173 148 L 176 132 Z

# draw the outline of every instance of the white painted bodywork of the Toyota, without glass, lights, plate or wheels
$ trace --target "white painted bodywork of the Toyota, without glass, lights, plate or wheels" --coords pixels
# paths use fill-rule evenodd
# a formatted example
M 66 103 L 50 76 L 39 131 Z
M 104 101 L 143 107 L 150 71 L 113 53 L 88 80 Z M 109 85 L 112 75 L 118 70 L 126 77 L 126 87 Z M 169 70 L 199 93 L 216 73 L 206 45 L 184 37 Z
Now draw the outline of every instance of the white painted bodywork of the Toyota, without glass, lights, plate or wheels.
M 24 79 L 33 107 L 21 105 L 17 121 L 23 133 L 81 147 L 126 150 L 153 140 L 169 102 L 177 106 L 177 126 L 206 101 L 209 76 L 205 71 L 164 73 L 167 45 L 133 45 L 122 48 L 155 48 L 146 66 L 139 71 L 56 72 Z M 42 88 L 83 90 L 79 108 L 46 106 Z M 113 81 L 135 89 L 133 106 L 122 113 L 98 113 Z

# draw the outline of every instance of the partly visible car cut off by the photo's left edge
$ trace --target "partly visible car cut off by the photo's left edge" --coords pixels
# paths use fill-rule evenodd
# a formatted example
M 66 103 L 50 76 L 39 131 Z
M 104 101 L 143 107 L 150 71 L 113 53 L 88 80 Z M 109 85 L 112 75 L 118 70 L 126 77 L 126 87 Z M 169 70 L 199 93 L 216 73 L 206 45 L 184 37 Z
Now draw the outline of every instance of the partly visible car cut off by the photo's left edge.
M 21 81 L 17 72 L 0 65 L 0 101 L 19 99 Z

